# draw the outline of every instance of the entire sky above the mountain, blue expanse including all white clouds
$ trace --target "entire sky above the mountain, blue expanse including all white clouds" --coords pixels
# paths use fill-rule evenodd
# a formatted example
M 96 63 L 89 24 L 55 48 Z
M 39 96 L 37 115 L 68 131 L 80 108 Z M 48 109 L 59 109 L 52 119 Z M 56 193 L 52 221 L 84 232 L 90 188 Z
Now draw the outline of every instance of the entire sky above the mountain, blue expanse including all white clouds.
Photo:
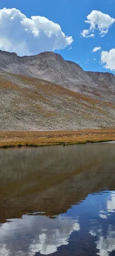
M 0 49 L 54 51 L 84 70 L 115 74 L 114 10 L 115 0 L 1 0 Z

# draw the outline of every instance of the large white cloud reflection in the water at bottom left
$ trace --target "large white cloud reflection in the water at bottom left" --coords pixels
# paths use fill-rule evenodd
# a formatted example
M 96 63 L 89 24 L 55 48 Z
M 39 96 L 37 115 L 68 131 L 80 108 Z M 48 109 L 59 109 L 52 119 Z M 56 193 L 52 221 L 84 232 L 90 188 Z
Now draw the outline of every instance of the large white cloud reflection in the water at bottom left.
M 61 245 L 67 245 L 73 231 L 79 231 L 78 219 L 58 216 L 24 215 L 13 219 L 0 228 L 0 254 L 4 256 L 33 256 L 35 252 L 50 254 Z

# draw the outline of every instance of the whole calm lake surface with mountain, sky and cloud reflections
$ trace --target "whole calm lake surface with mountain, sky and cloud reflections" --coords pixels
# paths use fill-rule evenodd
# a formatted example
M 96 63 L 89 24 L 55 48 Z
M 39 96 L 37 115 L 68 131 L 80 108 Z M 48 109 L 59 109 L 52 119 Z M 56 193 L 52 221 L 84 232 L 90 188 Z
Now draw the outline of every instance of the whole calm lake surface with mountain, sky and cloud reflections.
M 0 255 L 115 255 L 115 144 L 0 150 Z

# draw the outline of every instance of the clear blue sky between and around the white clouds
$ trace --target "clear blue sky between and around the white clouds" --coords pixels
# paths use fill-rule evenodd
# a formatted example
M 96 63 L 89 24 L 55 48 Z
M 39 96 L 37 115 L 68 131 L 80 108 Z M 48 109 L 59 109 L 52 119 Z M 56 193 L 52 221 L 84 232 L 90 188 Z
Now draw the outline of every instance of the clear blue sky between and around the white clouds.
M 73 43 L 72 45 L 65 47 L 65 49 L 55 50 L 55 52 L 61 54 L 64 59 L 79 63 L 84 70 L 112 72 L 114 74 L 115 54 L 114 58 L 112 57 L 113 65 L 110 63 L 108 66 L 113 67 L 111 70 L 105 69 L 103 67 L 104 64 L 101 65 L 100 54 L 101 51 L 109 52 L 109 50 L 114 49 L 115 47 L 115 23 L 109 27 L 108 33 L 103 37 L 100 36 L 98 30 L 95 30 L 95 37 L 83 37 L 81 36 L 81 31 L 89 29 L 89 24 L 85 23 L 84 20 L 87 19 L 86 16 L 93 10 L 101 11 L 104 14 L 108 14 L 111 18 L 115 18 L 115 0 L 1 0 L 0 9 L 3 8 L 16 8 L 28 18 L 31 18 L 31 16 L 43 16 L 52 20 L 53 23 L 59 24 L 62 32 L 64 32 L 66 36 L 73 37 Z M 1 26 L 2 25 L 0 24 L 0 29 Z M 6 35 L 4 36 L 6 38 Z M 12 41 L 12 44 L 13 43 L 14 41 Z M 45 40 L 43 41 L 43 44 L 45 44 Z M 95 47 L 99 46 L 102 48 L 101 50 L 92 52 Z M 71 47 L 72 49 L 68 50 Z M 7 50 L 3 49 L 3 46 L 0 46 L 0 48 L 2 50 Z M 110 59 L 109 54 L 107 57 L 105 57 L 105 55 L 103 57 L 104 59 Z M 107 59 L 106 62 L 107 61 L 109 60 Z

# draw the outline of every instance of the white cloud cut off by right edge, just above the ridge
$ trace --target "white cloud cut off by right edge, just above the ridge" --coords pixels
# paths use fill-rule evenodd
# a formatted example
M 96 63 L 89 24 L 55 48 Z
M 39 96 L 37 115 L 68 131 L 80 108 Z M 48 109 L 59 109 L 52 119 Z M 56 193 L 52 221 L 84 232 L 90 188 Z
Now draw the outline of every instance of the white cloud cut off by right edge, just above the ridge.
M 115 48 L 112 48 L 109 52 L 102 51 L 101 63 L 104 64 L 104 68 L 115 71 Z

